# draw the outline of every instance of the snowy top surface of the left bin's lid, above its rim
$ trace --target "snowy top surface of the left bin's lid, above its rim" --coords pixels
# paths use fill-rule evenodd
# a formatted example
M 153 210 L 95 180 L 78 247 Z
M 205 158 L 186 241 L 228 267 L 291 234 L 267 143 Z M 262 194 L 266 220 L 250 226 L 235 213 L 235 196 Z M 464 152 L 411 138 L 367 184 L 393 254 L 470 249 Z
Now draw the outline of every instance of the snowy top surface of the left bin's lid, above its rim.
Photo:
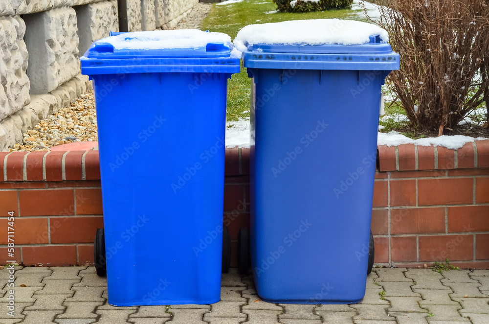
M 197 29 L 113 33 L 94 42 L 86 58 L 229 57 L 231 38 Z

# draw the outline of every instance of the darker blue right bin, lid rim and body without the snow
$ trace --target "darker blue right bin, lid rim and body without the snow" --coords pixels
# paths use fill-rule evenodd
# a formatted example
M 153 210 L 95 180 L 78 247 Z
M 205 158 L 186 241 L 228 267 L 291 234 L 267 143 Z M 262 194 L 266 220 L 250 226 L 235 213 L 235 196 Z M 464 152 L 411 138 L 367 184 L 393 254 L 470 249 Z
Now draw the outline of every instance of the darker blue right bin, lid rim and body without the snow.
M 381 85 L 399 56 L 390 50 L 385 61 L 393 62 L 382 65 L 379 54 L 375 70 L 376 55 L 262 50 L 244 56 L 254 81 L 251 264 L 258 295 L 274 303 L 358 302 L 365 295 Z

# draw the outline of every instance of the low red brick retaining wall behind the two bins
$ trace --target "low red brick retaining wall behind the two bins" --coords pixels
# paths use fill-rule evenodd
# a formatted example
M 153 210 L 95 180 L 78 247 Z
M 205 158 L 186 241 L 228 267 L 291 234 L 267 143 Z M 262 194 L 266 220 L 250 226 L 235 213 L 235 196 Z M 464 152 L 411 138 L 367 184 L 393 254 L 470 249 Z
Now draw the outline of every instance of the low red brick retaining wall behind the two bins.
M 8 211 L 19 216 L 19 263 L 93 262 L 103 227 L 98 151 L 0 153 L 0 170 L 0 263 L 8 259 Z M 224 224 L 235 252 L 239 229 L 249 226 L 249 149 L 226 149 Z M 372 231 L 379 264 L 449 258 L 489 268 L 489 140 L 458 150 L 379 146 Z

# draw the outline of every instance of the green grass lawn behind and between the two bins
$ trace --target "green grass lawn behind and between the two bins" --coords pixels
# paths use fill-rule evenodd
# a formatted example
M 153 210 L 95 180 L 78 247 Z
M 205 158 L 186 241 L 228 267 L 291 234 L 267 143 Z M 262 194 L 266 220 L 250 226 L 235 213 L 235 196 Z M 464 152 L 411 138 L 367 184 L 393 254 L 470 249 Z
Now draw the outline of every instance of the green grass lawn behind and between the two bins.
M 269 13 L 277 9 L 271 0 L 245 0 L 242 2 L 213 5 L 209 16 L 202 23 L 202 30 L 226 33 L 234 40 L 238 31 L 246 25 L 254 23 L 276 23 L 287 20 L 339 18 L 367 21 L 361 10 L 330 10 L 310 13 Z M 250 79 L 246 68 L 232 76 L 228 82 L 227 120 L 238 120 L 249 117 Z

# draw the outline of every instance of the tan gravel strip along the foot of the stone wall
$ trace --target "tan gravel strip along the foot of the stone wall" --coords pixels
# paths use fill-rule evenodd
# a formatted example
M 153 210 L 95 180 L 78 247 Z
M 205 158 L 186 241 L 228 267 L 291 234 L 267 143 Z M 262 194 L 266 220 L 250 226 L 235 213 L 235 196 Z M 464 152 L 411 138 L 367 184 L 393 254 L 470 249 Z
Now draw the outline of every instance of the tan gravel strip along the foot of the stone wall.
M 212 4 L 197 3 L 175 29 L 200 29 Z M 80 96 L 68 107 L 41 120 L 33 129 L 22 134 L 22 143 L 9 148 L 14 151 L 49 151 L 49 148 L 72 142 L 97 141 L 97 116 L 93 91 Z

